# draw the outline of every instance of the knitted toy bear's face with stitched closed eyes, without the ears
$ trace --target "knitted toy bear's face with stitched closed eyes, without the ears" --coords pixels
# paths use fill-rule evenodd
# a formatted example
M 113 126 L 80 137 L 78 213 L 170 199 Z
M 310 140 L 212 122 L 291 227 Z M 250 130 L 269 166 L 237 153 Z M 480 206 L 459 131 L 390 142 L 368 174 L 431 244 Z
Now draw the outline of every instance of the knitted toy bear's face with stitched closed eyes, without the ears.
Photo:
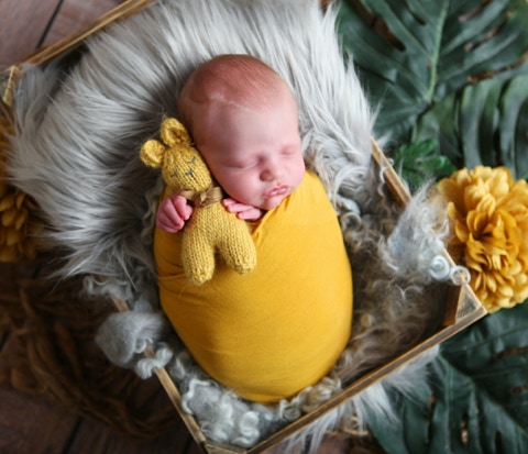
M 193 147 L 180 146 L 166 151 L 163 178 L 170 188 L 205 191 L 212 185 L 209 169 Z

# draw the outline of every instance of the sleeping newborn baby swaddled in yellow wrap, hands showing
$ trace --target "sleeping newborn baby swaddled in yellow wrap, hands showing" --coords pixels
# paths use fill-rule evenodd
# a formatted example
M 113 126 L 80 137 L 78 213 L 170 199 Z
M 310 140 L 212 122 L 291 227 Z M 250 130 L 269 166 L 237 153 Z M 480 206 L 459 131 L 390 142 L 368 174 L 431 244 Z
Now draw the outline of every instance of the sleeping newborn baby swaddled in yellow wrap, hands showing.
M 154 236 L 162 308 L 195 359 L 239 396 L 275 402 L 330 372 L 351 334 L 352 273 L 336 212 L 305 169 L 297 106 L 267 65 L 223 55 L 201 65 L 179 98 L 180 120 L 250 225 L 257 264 L 223 263 L 201 286 L 182 266 L 193 203 L 167 195 Z

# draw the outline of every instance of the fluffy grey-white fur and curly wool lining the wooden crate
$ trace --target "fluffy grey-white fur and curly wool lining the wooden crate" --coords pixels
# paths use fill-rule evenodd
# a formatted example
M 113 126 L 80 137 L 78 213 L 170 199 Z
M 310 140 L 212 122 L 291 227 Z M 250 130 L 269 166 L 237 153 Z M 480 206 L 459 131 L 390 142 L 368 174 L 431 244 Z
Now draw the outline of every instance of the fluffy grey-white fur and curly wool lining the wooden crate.
M 92 294 L 129 301 L 135 314 L 109 319 L 98 340 L 112 361 L 132 367 L 146 341 L 165 341 L 158 334 L 164 323 L 152 313 L 158 306 L 150 243 L 162 186 L 140 162 L 141 144 L 164 115 L 177 117 L 184 81 L 216 55 L 251 54 L 292 87 L 307 166 L 323 181 L 350 251 L 353 336 L 328 377 L 272 407 L 239 399 L 177 342 L 163 344 L 156 361 L 167 364 L 185 408 L 213 440 L 255 444 L 416 344 L 441 315 L 443 296 L 431 288 L 449 278 L 443 211 L 424 193 L 405 211 L 387 198 L 371 157 L 374 118 L 352 62 L 343 63 L 334 22 L 334 11 L 322 13 L 317 0 L 160 1 L 90 38 L 66 74 L 61 64 L 24 68 L 15 93 L 12 182 L 46 217 L 45 235 L 65 258 L 59 276 L 95 275 L 87 286 Z M 391 414 L 393 392 L 416 391 L 430 357 L 367 388 L 290 443 L 305 443 L 310 434 L 315 451 L 342 418 L 367 423 Z M 140 367 L 140 374 L 154 366 Z

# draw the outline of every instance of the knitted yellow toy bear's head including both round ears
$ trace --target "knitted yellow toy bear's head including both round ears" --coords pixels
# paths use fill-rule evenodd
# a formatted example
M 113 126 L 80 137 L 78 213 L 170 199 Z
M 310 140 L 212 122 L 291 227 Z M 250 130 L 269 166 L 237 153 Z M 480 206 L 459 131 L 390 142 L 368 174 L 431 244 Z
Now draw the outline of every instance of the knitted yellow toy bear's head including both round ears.
M 206 191 L 212 185 L 211 174 L 200 153 L 191 145 L 184 125 L 166 119 L 161 128 L 162 142 L 147 141 L 141 159 L 150 167 L 161 168 L 165 184 L 174 191 Z

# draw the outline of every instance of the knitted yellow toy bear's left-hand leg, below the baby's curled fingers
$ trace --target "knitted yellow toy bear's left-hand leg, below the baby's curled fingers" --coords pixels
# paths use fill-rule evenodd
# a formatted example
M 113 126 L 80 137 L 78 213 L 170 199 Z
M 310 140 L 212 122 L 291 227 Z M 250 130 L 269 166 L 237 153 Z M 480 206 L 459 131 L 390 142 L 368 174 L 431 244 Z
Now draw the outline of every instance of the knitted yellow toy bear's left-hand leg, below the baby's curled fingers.
M 195 285 L 207 283 L 215 273 L 215 246 L 200 234 L 200 229 L 185 232 L 182 262 L 187 279 Z

